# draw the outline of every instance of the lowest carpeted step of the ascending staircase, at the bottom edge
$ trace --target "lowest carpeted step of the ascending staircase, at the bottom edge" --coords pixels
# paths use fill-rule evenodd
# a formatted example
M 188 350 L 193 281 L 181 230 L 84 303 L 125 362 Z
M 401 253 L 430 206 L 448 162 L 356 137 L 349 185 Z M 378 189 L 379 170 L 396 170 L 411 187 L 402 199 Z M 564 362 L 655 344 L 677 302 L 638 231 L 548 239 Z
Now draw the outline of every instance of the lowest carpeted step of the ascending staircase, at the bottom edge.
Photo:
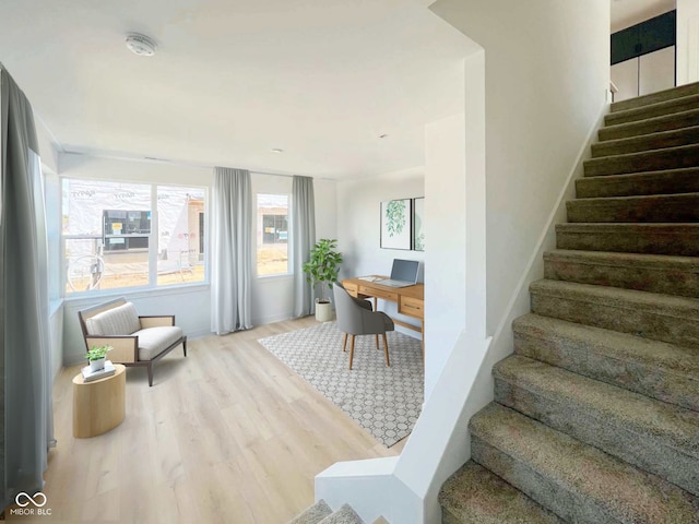
M 473 461 L 439 492 L 442 524 L 562 524 L 523 492 Z

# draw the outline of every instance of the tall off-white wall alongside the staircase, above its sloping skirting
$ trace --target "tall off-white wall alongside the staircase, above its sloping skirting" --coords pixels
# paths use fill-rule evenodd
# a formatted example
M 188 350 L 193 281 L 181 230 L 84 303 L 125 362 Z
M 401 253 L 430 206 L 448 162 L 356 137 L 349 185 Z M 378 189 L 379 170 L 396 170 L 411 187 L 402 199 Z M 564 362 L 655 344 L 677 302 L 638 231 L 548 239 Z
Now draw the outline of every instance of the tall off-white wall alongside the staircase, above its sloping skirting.
M 604 103 L 609 2 L 438 0 L 430 9 L 485 50 L 491 334 Z

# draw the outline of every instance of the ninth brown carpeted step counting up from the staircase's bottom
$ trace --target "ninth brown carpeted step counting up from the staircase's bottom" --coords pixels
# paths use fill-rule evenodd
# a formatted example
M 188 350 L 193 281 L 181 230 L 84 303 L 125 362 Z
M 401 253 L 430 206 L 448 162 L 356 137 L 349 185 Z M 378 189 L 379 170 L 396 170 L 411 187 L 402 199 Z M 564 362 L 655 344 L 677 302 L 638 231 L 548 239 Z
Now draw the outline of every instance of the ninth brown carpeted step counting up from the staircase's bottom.
M 606 175 L 576 180 L 579 199 L 699 192 L 699 168 Z

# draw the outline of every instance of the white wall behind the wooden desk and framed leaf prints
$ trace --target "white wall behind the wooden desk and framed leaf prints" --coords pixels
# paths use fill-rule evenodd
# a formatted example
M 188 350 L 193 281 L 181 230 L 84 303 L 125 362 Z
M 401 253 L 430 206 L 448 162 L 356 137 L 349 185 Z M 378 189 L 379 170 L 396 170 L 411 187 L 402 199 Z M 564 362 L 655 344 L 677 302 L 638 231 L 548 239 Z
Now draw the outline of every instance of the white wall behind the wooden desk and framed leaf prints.
M 393 259 L 425 260 L 423 251 L 381 249 L 380 243 L 381 202 L 425 196 L 424 172 L 423 167 L 417 167 L 337 182 L 337 248 L 343 257 L 340 278 L 388 275 L 391 273 Z M 428 237 L 426 239 L 429 250 L 430 240 Z M 429 269 L 425 267 L 424 271 L 427 274 Z M 415 319 L 398 314 L 395 303 L 379 300 L 378 308 L 393 318 L 419 325 Z M 419 333 L 415 331 L 401 326 L 395 329 L 419 337 Z

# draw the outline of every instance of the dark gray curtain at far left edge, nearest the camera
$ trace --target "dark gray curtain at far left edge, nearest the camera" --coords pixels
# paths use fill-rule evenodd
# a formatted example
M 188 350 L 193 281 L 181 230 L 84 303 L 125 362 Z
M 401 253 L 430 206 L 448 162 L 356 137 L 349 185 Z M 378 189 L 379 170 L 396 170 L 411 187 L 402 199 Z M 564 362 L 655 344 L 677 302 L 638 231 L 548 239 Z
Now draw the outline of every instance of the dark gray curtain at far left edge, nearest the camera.
M 0 64 L 0 472 L 2 507 L 44 487 L 55 445 L 48 247 L 32 106 Z

